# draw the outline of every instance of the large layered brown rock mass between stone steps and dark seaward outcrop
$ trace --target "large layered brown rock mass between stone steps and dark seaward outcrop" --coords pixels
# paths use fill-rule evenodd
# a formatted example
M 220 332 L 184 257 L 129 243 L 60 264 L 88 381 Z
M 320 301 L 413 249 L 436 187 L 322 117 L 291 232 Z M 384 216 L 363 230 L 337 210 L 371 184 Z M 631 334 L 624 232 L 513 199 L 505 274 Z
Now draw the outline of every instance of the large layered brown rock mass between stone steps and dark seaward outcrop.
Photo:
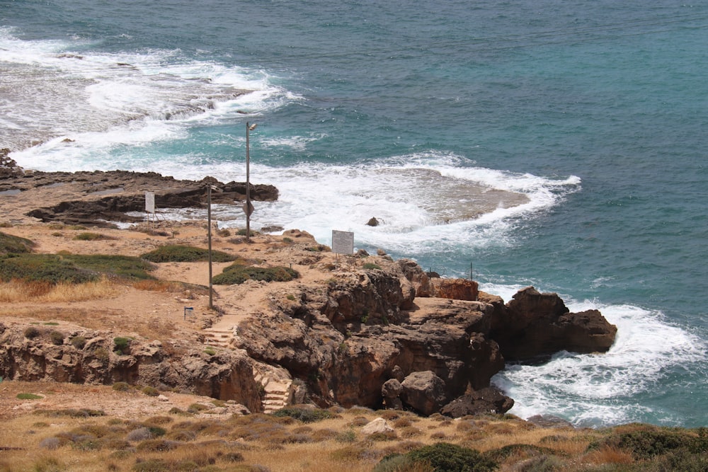
M 386 265 L 383 258 L 378 263 Z M 306 381 L 322 406 L 380 408 L 382 386 L 411 372 L 442 379 L 441 405 L 467 388 L 489 386 L 503 368 L 498 346 L 484 335 L 491 306 L 414 299 L 409 284 L 390 263 L 385 270 L 338 275 L 326 287 L 301 287 L 296 302 L 273 297 L 272 311 L 239 327 L 239 347 Z M 397 405 L 394 398 L 387 408 Z

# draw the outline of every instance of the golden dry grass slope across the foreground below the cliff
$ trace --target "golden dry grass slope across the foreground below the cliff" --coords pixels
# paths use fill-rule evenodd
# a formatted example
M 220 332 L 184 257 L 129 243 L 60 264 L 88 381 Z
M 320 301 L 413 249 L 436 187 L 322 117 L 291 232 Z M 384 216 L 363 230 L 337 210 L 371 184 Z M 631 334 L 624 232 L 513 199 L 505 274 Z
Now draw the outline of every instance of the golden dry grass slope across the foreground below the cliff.
M 405 454 L 442 439 L 428 432 L 491 454 L 499 471 L 637 466 L 629 451 L 609 446 L 588 451 L 588 444 L 607 432 L 544 429 L 518 418 L 441 421 L 362 408 L 338 411 L 335 418 L 307 424 L 274 415 L 215 419 L 200 412 L 176 415 L 167 410 L 135 414 L 130 419 L 110 415 L 76 418 L 19 408 L 43 401 L 16 399 L 16 392 L 29 391 L 28 386 L 35 384 L 8 381 L 2 385 L 6 390 L 0 390 L 0 401 L 13 413 L 4 418 L 0 429 L 0 471 L 371 471 L 388 454 Z M 150 401 L 135 392 L 117 392 L 108 386 L 43 384 L 42 393 L 48 401 L 62 394 L 72 398 L 79 389 L 95 391 L 93 394 L 101 398 L 113 395 L 121 405 L 128 398 Z M 205 399 L 186 396 L 182 400 L 188 401 L 203 403 Z M 181 410 L 186 409 L 181 404 Z M 132 405 L 131 410 L 142 408 Z M 362 433 L 364 420 L 382 416 L 389 418 L 395 435 L 384 441 Z M 413 430 L 423 433 L 406 434 Z

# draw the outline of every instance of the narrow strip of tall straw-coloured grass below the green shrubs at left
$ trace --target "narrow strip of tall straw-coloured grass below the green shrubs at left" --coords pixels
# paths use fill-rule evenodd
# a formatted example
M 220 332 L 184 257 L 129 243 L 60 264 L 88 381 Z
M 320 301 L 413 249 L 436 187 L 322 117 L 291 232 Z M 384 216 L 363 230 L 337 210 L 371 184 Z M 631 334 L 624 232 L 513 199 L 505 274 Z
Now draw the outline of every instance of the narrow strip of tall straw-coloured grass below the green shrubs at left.
M 51 284 L 49 282 L 23 282 L 12 280 L 0 284 L 0 301 L 20 303 L 64 303 L 113 297 L 118 293 L 115 285 L 105 278 L 98 282 L 84 284 Z

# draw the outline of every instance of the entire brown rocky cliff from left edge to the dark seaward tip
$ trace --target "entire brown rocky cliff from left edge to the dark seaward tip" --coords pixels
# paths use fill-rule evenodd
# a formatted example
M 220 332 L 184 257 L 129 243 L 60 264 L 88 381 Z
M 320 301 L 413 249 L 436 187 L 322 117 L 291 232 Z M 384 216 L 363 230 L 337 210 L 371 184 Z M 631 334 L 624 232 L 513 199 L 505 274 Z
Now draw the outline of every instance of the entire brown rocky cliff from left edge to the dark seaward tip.
M 295 381 L 299 401 L 459 416 L 513 405 L 490 386 L 505 357 L 603 352 L 614 340 L 615 326 L 599 312 L 569 313 L 556 294 L 529 287 L 503 304 L 476 282 L 430 279 L 411 260 L 365 260 L 323 268 L 332 270 L 325 283 L 269 284 L 268 306 L 241 322 L 232 350 L 216 353 L 198 336 L 136 337 L 120 347 L 109 331 L 56 334 L 6 322 L 0 376 L 178 388 L 261 411 L 256 374 L 271 366 Z

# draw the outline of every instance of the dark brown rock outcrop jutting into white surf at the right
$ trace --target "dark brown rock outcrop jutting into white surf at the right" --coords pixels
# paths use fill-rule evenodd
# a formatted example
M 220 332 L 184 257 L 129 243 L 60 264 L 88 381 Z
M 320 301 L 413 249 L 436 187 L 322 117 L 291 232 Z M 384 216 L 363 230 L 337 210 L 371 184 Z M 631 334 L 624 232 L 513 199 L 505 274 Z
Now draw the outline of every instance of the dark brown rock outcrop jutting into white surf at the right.
M 570 313 L 554 293 L 533 287 L 517 292 L 503 306 L 495 301 L 491 337 L 508 360 L 532 359 L 560 350 L 606 352 L 615 342 L 617 326 L 597 310 Z

